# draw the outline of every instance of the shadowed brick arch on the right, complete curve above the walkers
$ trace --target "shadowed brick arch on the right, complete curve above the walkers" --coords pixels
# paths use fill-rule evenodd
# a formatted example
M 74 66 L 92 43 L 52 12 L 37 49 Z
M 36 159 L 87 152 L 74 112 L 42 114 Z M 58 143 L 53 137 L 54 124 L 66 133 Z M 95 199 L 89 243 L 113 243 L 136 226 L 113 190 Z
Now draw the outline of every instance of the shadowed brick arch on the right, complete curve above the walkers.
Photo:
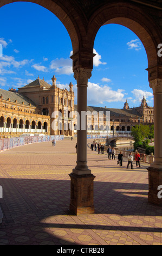
M 144 12 L 144 8 L 130 3 L 116 3 L 98 9 L 89 21 L 89 40 L 94 43 L 100 27 L 112 23 L 125 26 L 138 36 L 146 50 L 148 68 L 162 62 L 157 54 L 157 46 L 162 42 L 160 28 Z

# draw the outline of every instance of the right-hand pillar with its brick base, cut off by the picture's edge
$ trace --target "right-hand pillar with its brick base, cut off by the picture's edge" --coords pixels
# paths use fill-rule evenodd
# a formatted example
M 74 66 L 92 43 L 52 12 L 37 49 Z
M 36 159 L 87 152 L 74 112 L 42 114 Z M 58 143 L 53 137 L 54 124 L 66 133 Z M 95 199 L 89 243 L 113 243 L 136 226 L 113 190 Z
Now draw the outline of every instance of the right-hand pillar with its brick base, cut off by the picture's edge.
M 148 170 L 148 202 L 162 205 L 158 192 L 162 186 L 162 79 L 150 81 L 154 95 L 154 161 Z

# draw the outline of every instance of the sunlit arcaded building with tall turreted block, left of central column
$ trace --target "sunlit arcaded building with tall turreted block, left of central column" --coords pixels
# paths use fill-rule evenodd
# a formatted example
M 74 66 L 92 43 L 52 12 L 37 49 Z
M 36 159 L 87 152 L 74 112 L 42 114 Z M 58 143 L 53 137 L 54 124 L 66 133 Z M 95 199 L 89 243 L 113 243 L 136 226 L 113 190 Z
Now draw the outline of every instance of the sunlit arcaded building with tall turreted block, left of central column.
M 55 76 L 51 80 L 50 85 L 38 77 L 18 91 L 0 89 L 2 138 L 23 133 L 73 136 L 69 129 L 69 113 L 74 111 L 73 84 L 68 91 L 56 86 Z

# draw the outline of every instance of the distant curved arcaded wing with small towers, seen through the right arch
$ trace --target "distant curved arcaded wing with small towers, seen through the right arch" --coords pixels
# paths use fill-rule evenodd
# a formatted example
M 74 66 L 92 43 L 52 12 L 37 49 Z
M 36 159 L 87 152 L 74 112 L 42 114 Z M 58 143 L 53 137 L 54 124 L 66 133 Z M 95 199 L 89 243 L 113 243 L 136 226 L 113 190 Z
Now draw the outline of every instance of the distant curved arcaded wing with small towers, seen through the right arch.
M 74 133 L 77 132 L 77 105 L 74 118 Z M 145 96 L 139 107 L 129 108 L 128 102 L 124 108 L 87 106 L 87 133 L 106 135 L 106 133 L 131 132 L 132 127 L 139 124 L 152 125 L 153 107 L 147 105 Z

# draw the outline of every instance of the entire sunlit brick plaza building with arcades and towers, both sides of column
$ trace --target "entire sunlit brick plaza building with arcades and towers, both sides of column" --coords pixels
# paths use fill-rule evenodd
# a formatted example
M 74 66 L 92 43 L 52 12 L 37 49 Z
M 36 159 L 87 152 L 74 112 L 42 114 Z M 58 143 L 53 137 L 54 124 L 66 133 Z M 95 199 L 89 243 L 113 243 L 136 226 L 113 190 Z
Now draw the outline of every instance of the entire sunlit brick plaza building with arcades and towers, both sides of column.
M 77 133 L 73 84 L 69 84 L 68 91 L 57 86 L 55 76 L 51 80 L 50 85 L 38 77 L 18 88 L 18 92 L 12 88 L 9 91 L 0 89 L 1 136 L 22 133 L 74 136 Z M 122 109 L 87 106 L 86 121 L 88 134 L 131 132 L 136 124 L 153 124 L 153 107 L 147 105 L 145 96 L 139 107 L 129 108 L 127 100 Z

